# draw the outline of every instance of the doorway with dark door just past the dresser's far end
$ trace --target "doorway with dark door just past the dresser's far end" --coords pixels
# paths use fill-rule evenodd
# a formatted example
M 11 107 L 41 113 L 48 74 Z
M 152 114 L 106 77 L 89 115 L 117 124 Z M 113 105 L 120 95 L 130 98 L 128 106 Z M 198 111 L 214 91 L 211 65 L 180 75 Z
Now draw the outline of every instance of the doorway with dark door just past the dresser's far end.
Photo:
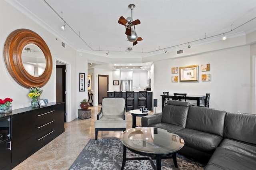
M 66 65 L 60 62 L 56 62 L 56 102 L 65 102 L 64 121 L 66 122 Z

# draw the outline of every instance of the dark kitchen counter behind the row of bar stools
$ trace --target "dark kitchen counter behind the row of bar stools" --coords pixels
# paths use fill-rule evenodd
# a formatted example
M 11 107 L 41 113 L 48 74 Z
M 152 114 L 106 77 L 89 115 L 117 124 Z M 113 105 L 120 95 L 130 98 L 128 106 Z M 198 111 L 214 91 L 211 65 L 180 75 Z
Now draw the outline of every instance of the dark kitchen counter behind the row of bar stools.
M 107 91 L 108 97 L 114 97 L 114 91 Z M 152 110 L 152 91 L 147 92 L 147 108 L 148 110 Z M 122 98 L 126 100 L 126 91 L 122 91 Z M 133 109 L 140 109 L 138 107 L 138 98 L 139 98 L 139 91 L 134 91 L 134 108 Z M 127 111 L 132 110 L 132 107 L 129 107 Z

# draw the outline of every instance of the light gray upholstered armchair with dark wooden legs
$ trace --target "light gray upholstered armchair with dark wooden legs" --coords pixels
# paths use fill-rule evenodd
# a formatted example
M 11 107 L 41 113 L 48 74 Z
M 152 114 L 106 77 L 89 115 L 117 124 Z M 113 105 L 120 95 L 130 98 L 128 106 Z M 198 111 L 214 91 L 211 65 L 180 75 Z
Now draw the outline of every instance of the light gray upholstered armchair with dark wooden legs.
M 102 107 L 94 123 L 95 140 L 98 130 L 126 130 L 124 98 L 104 98 Z

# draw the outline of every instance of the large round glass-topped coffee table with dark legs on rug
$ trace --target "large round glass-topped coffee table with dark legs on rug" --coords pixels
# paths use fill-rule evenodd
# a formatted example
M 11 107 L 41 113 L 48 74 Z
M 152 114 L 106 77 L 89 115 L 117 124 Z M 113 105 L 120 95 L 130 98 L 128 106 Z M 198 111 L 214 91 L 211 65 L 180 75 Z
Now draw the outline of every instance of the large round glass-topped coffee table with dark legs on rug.
M 124 145 L 122 168 L 126 160 L 150 160 L 153 169 L 161 169 L 161 159 L 172 158 L 178 168 L 176 152 L 184 146 L 184 140 L 177 134 L 154 127 L 136 127 L 128 129 L 120 135 Z M 126 149 L 140 154 L 140 157 L 126 158 Z M 156 160 L 156 165 L 152 161 Z

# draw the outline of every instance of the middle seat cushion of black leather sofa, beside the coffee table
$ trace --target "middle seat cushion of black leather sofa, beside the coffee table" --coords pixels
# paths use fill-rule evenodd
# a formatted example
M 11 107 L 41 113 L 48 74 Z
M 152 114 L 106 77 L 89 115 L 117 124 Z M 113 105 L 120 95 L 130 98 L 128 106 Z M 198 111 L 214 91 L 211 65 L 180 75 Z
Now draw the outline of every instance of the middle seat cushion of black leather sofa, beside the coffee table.
M 184 139 L 185 145 L 204 151 L 211 152 L 220 144 L 222 137 L 210 134 L 206 132 L 201 132 L 198 130 L 184 128 L 176 132 L 181 138 Z

